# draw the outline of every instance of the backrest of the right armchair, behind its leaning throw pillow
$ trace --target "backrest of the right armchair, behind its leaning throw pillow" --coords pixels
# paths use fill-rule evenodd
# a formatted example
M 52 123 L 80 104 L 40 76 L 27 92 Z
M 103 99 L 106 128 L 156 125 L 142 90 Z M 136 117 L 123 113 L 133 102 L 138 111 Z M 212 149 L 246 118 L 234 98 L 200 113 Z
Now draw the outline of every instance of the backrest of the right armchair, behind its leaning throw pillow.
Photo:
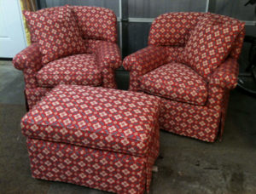
M 230 25 L 241 22 L 228 16 L 212 13 L 176 12 L 161 14 L 152 23 L 148 36 L 148 45 L 184 47 L 189 40 L 190 32 L 203 17 L 212 17 Z M 244 35 L 245 31 L 243 30 L 236 37 L 236 41 L 230 51 L 230 55 L 236 59 L 241 53 Z

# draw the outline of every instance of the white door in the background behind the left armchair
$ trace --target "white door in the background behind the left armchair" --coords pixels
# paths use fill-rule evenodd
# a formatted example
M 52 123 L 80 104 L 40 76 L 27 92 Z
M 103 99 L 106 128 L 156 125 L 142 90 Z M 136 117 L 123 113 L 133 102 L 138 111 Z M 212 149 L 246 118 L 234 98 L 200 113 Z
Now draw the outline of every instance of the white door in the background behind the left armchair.
M 0 0 L 0 57 L 13 58 L 26 48 L 20 0 Z

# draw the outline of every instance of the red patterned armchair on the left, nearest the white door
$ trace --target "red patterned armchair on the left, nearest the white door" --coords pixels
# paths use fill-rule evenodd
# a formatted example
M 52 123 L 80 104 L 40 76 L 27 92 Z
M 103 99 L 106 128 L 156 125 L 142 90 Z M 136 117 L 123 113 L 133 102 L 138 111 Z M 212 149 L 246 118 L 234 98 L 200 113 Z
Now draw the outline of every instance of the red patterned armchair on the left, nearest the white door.
M 49 14 L 54 15 L 57 20 L 45 18 Z M 71 14 L 73 20 L 68 19 Z M 41 9 L 35 13 L 24 12 L 24 15 L 30 28 L 32 44 L 16 54 L 13 64 L 24 73 L 29 108 L 59 83 L 116 88 L 114 71 L 121 66 L 121 56 L 116 44 L 117 20 L 112 10 L 67 5 Z M 43 43 L 47 36 L 51 43 L 59 41 L 55 36 L 50 37 L 48 24 L 64 27 L 50 33 L 62 38 L 61 41 L 67 44 L 59 43 L 56 45 L 59 48 L 55 49 L 48 43 Z M 46 27 L 42 29 L 42 25 Z M 61 31 L 67 30 L 72 31 L 68 32 L 70 34 L 61 34 Z M 75 30 L 79 31 L 79 37 L 76 37 L 78 32 Z M 42 39 L 38 39 L 38 36 Z M 74 41 L 77 41 L 76 44 Z M 49 58 L 44 56 L 47 49 Z M 70 54 L 73 50 L 76 53 Z

